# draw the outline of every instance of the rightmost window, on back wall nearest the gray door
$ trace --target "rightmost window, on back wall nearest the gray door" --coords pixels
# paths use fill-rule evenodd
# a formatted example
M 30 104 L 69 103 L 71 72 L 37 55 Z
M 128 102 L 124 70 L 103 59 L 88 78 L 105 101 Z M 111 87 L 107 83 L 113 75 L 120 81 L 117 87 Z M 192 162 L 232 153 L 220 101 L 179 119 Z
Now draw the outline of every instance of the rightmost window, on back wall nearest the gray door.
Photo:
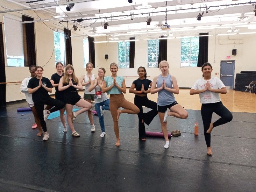
M 199 37 L 181 39 L 181 67 L 196 67 L 199 51 Z

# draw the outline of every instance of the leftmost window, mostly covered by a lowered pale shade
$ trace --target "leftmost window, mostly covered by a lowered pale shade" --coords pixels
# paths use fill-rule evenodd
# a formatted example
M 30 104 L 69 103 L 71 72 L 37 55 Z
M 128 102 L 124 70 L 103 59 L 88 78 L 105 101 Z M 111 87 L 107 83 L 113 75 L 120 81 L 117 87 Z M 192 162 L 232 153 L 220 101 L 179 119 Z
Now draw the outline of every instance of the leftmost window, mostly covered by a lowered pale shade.
M 5 44 L 7 66 L 23 67 L 24 52 L 23 52 L 23 28 L 22 18 L 14 15 L 3 17 L 5 27 Z M 14 30 L 15 29 L 15 35 Z

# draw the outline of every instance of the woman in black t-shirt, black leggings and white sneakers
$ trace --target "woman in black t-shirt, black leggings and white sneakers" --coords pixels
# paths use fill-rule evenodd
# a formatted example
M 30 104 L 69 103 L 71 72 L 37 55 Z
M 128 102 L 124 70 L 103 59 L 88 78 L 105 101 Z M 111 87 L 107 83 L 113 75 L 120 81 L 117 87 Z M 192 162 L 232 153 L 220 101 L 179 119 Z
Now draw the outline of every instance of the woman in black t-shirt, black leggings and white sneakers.
M 50 113 L 58 111 L 64 107 L 64 103 L 57 99 L 53 99 L 48 94 L 52 92 L 51 81 L 43 77 L 43 67 L 37 66 L 35 69 L 36 77 L 33 77 L 28 82 L 28 92 L 32 94 L 32 100 L 35 104 L 36 112 L 39 116 L 42 129 L 44 131 L 43 140 L 49 138 L 45 121 Z M 55 106 L 50 110 L 44 110 L 44 105 Z

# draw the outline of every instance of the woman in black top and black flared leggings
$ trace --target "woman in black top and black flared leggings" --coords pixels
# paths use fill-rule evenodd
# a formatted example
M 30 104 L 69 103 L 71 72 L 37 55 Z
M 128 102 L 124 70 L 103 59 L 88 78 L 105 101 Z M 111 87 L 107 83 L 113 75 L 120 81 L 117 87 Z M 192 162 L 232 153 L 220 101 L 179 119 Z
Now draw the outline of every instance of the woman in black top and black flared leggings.
M 152 81 L 147 79 L 147 72 L 145 67 L 139 67 L 138 70 L 139 78 L 133 81 L 131 84 L 129 92 L 134 93 L 134 104 L 140 109 L 140 113 L 138 113 L 139 125 L 139 139 L 142 141 L 146 141 L 146 130 L 145 125 L 150 124 L 150 122 L 157 115 L 157 103 L 148 99 L 147 94 L 150 93 L 149 86 L 151 87 Z M 136 88 L 136 90 L 134 90 Z M 148 113 L 143 113 L 142 106 L 148 107 L 152 109 Z

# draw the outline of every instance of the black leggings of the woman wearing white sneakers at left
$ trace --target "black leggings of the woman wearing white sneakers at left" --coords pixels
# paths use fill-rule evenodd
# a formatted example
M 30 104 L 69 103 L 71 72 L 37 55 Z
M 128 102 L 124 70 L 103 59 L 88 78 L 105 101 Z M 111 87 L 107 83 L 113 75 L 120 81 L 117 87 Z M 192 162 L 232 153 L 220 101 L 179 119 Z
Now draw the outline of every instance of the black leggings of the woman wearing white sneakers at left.
M 46 128 L 46 123 L 44 121 L 44 114 L 43 114 L 44 105 L 55 106 L 54 108 L 51 108 L 49 110 L 50 113 L 52 113 L 52 112 L 55 112 L 55 111 L 58 111 L 58 110 L 64 108 L 65 104 L 62 101 L 59 101 L 59 100 L 53 99 L 53 98 L 50 98 L 45 103 L 35 104 L 35 109 L 36 109 L 36 112 L 37 112 L 38 117 L 40 119 L 42 129 L 43 129 L 44 132 L 46 132 L 47 128 Z

